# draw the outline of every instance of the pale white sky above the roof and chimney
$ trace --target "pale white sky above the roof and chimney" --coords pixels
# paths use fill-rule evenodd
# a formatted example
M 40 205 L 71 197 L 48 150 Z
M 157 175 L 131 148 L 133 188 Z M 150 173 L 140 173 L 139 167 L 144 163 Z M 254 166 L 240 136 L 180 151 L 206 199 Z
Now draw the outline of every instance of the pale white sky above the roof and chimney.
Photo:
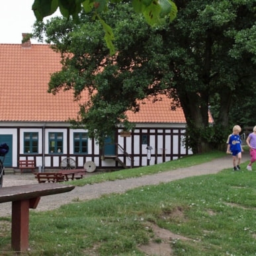
M 36 21 L 34 0 L 5 0 L 0 3 L 0 44 L 21 44 L 22 33 L 32 32 Z M 31 40 L 32 44 L 38 43 Z

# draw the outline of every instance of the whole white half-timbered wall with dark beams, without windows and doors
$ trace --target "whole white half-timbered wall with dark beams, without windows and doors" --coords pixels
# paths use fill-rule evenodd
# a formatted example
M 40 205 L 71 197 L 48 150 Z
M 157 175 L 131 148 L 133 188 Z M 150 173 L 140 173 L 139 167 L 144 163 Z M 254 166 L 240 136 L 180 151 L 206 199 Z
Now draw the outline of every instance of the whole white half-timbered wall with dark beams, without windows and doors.
M 62 127 L 63 126 L 63 127 Z M 166 126 L 166 124 L 165 124 Z M 139 127 L 131 132 L 130 136 L 122 136 L 116 131 L 114 145 L 116 157 L 126 167 L 141 167 L 171 161 L 192 153 L 183 146 L 185 127 Z M 26 132 L 38 133 L 38 152 L 24 152 L 24 134 Z M 60 132 L 63 134 L 63 151 L 52 153 L 49 151 L 49 134 Z M 1 134 L 12 136 L 12 159 L 11 165 L 6 167 L 18 168 L 18 160 L 34 159 L 36 167 L 44 169 L 60 169 L 60 164 L 65 157 L 75 160 L 76 167 L 81 168 L 87 161 L 93 161 L 99 169 L 122 169 L 122 165 L 115 157 L 104 157 L 104 150 L 99 148 L 95 140 L 88 138 L 88 151 L 85 154 L 74 152 L 74 133 L 86 132 L 86 130 L 73 130 L 67 124 L 49 126 L 2 127 Z M 0 137 L 1 138 L 1 137 Z M 0 142 L 3 143 L 3 142 Z

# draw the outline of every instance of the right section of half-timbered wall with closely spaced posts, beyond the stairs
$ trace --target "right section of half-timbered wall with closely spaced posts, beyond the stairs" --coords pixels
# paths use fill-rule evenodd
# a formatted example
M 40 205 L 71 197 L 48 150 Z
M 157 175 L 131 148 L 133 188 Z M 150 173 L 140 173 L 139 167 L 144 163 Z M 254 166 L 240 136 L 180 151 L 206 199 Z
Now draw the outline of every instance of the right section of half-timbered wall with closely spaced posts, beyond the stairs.
M 183 146 L 184 133 L 185 128 L 139 128 L 130 137 L 118 136 L 118 144 L 132 155 L 134 167 L 154 165 L 192 153 Z M 143 140 L 145 136 L 147 143 Z M 130 159 L 122 150 L 118 150 L 118 157 L 130 166 Z

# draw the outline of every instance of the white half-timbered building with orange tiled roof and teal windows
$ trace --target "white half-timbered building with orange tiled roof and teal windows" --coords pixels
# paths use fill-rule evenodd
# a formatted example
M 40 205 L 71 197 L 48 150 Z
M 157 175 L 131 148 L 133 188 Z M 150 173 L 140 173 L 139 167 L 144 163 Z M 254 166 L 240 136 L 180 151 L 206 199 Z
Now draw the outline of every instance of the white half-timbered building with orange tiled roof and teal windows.
M 171 100 L 146 100 L 140 112 L 129 113 L 136 123 L 130 134 L 115 131 L 104 149 L 87 137 L 87 131 L 70 128 L 69 118 L 79 111 L 71 91 L 47 92 L 50 74 L 61 69 L 60 56 L 48 45 L 0 44 L 0 143 L 10 151 L 5 167 L 19 168 L 18 161 L 34 159 L 36 167 L 81 168 L 94 163 L 99 169 L 140 167 L 177 159 L 191 153 L 183 144 L 183 110 L 171 110 Z M 67 160 L 67 161 L 66 161 Z

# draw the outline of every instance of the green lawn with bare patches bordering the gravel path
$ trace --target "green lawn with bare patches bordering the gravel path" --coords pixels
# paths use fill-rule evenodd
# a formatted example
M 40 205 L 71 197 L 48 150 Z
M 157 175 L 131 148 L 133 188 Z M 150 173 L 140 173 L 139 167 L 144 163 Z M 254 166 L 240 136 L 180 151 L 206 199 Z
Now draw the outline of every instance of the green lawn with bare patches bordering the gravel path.
M 177 167 L 200 161 L 185 157 Z M 256 176 L 245 167 L 31 212 L 30 251 L 24 255 L 144 255 L 138 245 L 151 238 L 163 242 L 150 224 L 187 237 L 169 241 L 174 255 L 255 255 Z M 7 226 L 11 221 L 0 220 Z M 1 229 L 1 255 L 13 255 L 10 241 L 11 231 Z

